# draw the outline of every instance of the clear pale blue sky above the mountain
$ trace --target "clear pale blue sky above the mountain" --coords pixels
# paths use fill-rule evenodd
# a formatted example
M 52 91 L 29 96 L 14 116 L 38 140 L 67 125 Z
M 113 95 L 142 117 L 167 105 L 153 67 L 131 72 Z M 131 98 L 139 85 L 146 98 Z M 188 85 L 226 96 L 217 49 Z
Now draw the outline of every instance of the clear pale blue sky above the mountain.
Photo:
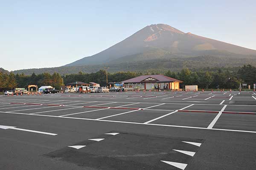
M 62 66 L 157 23 L 256 49 L 255 0 L 138 1 L 0 0 L 0 67 Z

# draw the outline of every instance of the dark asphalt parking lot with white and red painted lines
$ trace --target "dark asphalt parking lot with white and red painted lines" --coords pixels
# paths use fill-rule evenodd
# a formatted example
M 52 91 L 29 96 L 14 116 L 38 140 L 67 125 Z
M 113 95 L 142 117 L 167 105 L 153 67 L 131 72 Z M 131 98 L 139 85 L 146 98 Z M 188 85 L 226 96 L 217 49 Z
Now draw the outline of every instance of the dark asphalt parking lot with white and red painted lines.
M 2 95 L 0 169 L 253 170 L 255 116 L 243 91 Z

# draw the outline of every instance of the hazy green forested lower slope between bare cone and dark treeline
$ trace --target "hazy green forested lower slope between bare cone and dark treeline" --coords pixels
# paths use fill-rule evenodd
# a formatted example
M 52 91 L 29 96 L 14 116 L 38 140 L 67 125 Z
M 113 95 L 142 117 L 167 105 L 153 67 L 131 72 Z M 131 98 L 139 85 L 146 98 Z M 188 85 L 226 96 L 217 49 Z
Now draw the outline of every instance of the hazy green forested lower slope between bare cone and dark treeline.
M 137 72 L 159 72 L 164 73 L 167 70 L 180 71 L 183 68 L 189 68 L 193 70 L 201 70 L 204 68 L 214 67 L 238 67 L 251 64 L 256 66 L 256 60 L 252 58 L 228 58 L 228 57 L 213 57 L 213 56 L 197 56 L 188 58 L 161 58 L 161 59 L 148 59 L 145 61 L 123 61 L 122 63 L 110 63 L 109 72 L 119 71 L 137 71 Z M 49 72 L 53 74 L 58 72 L 61 75 L 77 74 L 78 72 L 97 72 L 103 69 L 103 65 L 87 65 L 87 66 L 61 66 L 54 68 L 41 68 L 41 69 L 22 69 L 13 71 L 14 74 L 24 73 L 25 75 L 41 74 L 43 72 Z

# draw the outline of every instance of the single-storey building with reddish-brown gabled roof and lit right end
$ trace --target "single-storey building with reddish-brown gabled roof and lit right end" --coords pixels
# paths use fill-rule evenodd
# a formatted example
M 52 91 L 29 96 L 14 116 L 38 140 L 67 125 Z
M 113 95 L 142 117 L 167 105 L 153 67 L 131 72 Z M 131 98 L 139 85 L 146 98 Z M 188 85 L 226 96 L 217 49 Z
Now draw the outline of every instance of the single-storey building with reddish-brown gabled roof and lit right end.
M 141 75 L 122 81 L 125 89 L 180 89 L 180 83 L 183 81 L 170 78 L 165 75 Z

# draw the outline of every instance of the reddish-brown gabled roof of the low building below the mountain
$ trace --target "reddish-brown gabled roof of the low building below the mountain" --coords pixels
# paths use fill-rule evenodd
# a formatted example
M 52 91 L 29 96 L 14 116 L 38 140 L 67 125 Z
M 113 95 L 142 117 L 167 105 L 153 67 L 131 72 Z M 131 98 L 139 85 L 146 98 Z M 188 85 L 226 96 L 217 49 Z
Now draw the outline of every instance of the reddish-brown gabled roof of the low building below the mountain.
M 182 83 L 183 81 L 177 80 L 175 78 L 170 78 L 165 75 L 141 75 L 139 77 L 131 78 L 123 82 L 124 83 L 139 83 L 139 82 L 180 82 Z

